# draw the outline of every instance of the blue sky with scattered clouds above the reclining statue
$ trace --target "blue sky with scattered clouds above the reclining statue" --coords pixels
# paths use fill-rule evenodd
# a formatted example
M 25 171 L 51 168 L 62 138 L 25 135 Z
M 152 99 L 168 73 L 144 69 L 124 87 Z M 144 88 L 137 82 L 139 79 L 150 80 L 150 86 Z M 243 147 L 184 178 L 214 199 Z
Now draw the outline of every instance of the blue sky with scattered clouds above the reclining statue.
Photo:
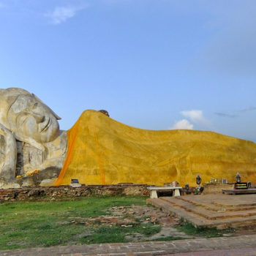
M 0 88 L 143 129 L 256 142 L 256 1 L 0 0 Z

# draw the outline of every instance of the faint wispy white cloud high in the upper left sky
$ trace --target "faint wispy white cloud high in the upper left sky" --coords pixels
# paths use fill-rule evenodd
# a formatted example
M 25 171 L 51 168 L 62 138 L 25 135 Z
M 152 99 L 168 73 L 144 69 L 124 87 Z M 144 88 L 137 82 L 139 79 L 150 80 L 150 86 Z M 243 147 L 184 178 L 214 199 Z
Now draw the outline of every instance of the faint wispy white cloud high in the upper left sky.
M 45 13 L 45 16 L 50 18 L 50 22 L 54 25 L 64 23 L 67 19 L 75 16 L 76 12 L 85 7 L 56 7 L 52 12 Z

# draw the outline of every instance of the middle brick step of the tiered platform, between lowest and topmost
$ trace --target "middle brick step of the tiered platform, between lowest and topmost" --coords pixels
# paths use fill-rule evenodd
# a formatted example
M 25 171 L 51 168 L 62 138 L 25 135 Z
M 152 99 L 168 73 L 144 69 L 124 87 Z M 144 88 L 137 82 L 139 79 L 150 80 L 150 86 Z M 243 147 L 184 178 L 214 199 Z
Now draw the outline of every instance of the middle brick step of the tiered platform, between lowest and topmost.
M 185 202 L 184 200 L 178 200 L 178 197 L 160 197 L 159 199 L 167 201 L 175 206 L 184 208 L 185 211 L 197 214 L 200 217 L 206 219 L 226 219 L 237 217 L 251 217 L 256 216 L 256 209 L 253 211 L 211 211 L 201 206 L 195 206 L 193 203 Z

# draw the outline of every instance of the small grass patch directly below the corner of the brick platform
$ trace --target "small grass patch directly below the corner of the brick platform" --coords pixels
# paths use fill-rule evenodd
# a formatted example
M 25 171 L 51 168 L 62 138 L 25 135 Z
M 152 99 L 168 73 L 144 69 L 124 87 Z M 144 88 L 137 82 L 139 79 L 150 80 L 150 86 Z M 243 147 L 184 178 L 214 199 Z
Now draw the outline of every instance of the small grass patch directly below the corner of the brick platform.
M 223 236 L 224 233 L 233 232 L 232 229 L 217 230 L 216 227 L 194 227 L 189 222 L 183 222 L 181 225 L 176 226 L 179 231 L 182 231 L 190 236 L 203 236 L 205 238 Z

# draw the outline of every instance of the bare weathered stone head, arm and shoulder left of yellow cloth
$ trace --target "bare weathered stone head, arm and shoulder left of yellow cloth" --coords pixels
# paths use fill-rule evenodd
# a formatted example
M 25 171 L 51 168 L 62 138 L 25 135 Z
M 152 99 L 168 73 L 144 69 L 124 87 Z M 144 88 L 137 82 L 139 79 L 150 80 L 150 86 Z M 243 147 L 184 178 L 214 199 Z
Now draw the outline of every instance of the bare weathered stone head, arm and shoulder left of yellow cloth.
M 0 89 L 1 188 L 55 182 L 67 149 L 59 119 L 29 91 Z

